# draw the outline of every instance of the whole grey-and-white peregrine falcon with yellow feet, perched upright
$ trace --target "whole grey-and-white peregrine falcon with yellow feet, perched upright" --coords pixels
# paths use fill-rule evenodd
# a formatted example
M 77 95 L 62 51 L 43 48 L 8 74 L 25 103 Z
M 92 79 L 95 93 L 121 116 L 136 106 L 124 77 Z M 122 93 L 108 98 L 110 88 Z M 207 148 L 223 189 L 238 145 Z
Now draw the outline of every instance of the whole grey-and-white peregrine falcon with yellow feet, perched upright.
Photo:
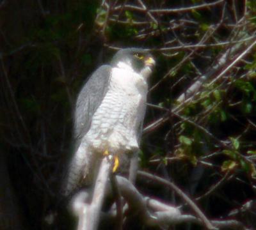
M 76 102 L 76 153 L 68 168 L 65 194 L 93 182 L 104 153 L 115 158 L 115 171 L 119 157 L 138 151 L 147 80 L 154 65 L 147 51 L 122 49 L 84 84 Z

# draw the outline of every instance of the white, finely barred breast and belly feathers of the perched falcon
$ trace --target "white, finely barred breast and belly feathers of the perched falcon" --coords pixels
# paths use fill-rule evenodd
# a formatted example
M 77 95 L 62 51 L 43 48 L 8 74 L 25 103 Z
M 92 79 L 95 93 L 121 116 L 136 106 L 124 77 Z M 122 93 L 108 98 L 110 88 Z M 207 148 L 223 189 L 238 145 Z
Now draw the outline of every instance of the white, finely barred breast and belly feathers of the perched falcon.
M 138 73 L 113 68 L 109 90 L 85 136 L 88 147 L 115 155 L 138 150 L 138 131 L 145 116 L 147 82 Z

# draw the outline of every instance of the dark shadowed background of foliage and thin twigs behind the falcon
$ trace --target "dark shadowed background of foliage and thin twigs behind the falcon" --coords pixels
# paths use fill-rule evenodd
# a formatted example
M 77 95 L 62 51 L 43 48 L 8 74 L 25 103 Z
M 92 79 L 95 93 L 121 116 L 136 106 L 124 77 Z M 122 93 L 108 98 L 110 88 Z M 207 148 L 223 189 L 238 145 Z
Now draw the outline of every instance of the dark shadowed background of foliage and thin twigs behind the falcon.
M 1 1 L 0 228 L 49 228 L 79 89 L 118 48 L 143 47 L 157 66 L 141 169 L 174 181 L 207 217 L 253 229 L 255 206 L 243 204 L 255 197 L 255 12 L 246 0 Z M 184 204 L 146 182 L 141 193 Z

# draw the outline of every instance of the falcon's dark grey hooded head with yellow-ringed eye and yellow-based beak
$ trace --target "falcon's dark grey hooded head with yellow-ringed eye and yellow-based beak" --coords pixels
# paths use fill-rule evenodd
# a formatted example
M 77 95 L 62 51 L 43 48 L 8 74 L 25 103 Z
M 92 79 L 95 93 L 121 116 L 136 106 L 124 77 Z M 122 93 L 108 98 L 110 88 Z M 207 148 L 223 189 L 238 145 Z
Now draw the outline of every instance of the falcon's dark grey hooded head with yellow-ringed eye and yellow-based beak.
M 153 56 L 144 49 L 129 48 L 122 49 L 116 52 L 112 66 L 118 66 L 121 68 L 131 68 L 137 73 L 151 73 L 156 62 Z

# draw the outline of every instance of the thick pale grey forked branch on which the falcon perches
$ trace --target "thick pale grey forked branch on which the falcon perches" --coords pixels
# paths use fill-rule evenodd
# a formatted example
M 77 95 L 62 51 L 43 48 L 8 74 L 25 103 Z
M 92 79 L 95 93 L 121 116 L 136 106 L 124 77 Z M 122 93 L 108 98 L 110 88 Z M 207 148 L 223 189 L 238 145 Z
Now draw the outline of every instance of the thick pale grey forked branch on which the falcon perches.
M 95 190 L 92 203 L 86 204 L 84 202 L 87 197 L 87 193 L 84 191 L 80 192 L 76 198 L 73 199 L 73 208 L 76 215 L 79 217 L 78 230 L 97 229 L 97 226 L 99 226 L 100 217 L 116 218 L 116 208 L 112 208 L 106 213 L 100 210 L 104 195 L 111 193 L 110 186 L 107 186 L 108 180 L 104 179 L 106 178 L 106 173 L 110 172 L 111 170 L 111 164 L 109 164 L 107 158 L 105 159 L 106 160 L 102 161 L 102 166 L 105 168 L 100 169 L 100 173 L 95 185 L 95 188 L 99 190 Z M 153 178 L 159 183 L 163 183 L 163 181 L 160 180 L 162 178 L 159 179 L 159 177 L 154 175 L 151 175 L 152 177 L 148 176 L 148 173 L 140 172 L 139 176 L 144 176 L 145 178 L 149 179 Z M 132 185 L 129 180 L 122 176 L 116 176 L 116 184 L 120 190 L 120 195 L 124 197 L 128 204 L 122 207 L 123 213 L 125 214 L 127 209 L 136 211 L 143 222 L 148 226 L 170 226 L 180 223 L 195 223 L 204 226 L 206 229 L 221 229 L 227 227 L 232 227 L 232 229 L 245 229 L 243 224 L 237 220 L 205 220 L 205 217 L 202 218 L 201 216 L 204 214 L 198 215 L 199 209 L 195 203 L 193 203 L 193 210 L 196 210 L 196 215 L 198 215 L 199 218 L 195 217 L 194 215 L 184 215 L 180 213 L 179 208 L 172 206 L 171 204 L 166 204 L 161 201 L 157 201 L 156 199 L 145 197 L 138 191 L 136 187 L 134 187 L 134 185 Z M 176 188 L 175 191 L 177 192 Z M 184 198 L 183 192 L 180 193 L 181 195 L 179 195 Z

